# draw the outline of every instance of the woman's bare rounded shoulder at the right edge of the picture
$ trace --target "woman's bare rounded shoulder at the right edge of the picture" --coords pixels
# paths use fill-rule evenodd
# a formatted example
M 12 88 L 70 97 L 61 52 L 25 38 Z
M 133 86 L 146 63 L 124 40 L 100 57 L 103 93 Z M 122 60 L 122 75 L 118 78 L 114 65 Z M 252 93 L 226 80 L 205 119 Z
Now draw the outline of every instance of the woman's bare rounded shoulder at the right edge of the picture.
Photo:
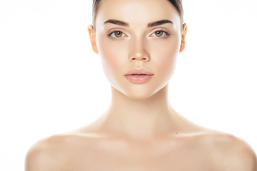
M 219 131 L 211 131 L 205 139 L 220 170 L 257 170 L 254 150 L 241 138 Z

